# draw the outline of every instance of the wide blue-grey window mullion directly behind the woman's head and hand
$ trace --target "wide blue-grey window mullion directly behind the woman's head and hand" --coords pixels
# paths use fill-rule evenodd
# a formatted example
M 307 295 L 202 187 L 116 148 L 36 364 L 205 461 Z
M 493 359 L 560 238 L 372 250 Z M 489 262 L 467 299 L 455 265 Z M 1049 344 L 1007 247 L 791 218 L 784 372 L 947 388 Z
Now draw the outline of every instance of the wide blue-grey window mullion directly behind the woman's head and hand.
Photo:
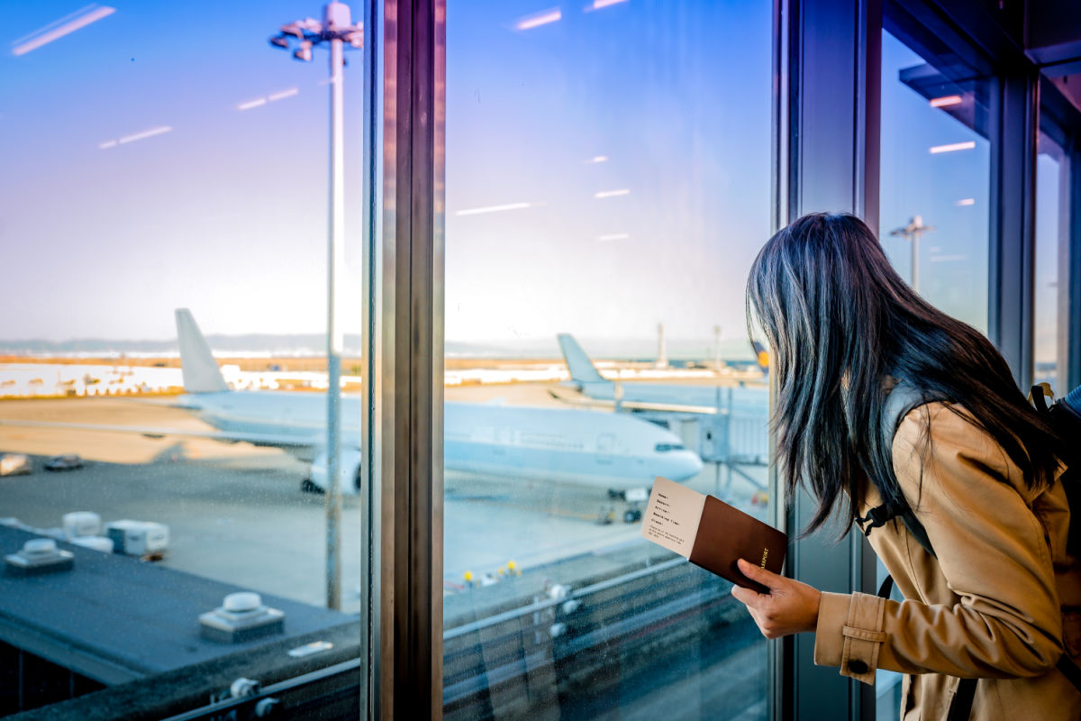
M 789 0 L 786 5 L 788 192 L 785 222 L 813 211 L 848 211 L 878 222 L 881 1 L 838 5 L 829 0 Z M 778 198 L 780 193 L 777 193 Z M 858 591 L 868 585 L 865 548 L 857 535 L 844 544 L 828 537 L 836 528 L 796 538 L 815 500 L 804 491 L 792 499 L 790 575 L 824 590 Z M 775 718 L 813 717 L 823 708 L 856 719 L 873 708 L 873 695 L 837 669 L 813 663 L 814 638 L 799 635 L 782 645 L 784 678 Z M 844 709 L 844 710 L 841 710 Z

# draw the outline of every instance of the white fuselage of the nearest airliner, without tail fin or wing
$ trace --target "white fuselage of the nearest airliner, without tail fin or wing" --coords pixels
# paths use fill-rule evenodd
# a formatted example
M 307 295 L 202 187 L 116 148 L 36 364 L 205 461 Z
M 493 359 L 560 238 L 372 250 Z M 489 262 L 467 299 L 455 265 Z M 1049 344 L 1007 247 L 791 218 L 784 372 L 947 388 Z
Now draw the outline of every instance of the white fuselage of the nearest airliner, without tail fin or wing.
M 221 391 L 181 403 L 223 430 L 259 433 L 312 462 L 325 444 L 326 400 L 319 393 Z M 359 451 L 363 406 L 342 398 L 342 443 Z M 626 490 L 657 476 L 686 480 L 702 460 L 672 433 L 622 414 L 448 402 L 444 464 L 450 470 L 556 480 Z

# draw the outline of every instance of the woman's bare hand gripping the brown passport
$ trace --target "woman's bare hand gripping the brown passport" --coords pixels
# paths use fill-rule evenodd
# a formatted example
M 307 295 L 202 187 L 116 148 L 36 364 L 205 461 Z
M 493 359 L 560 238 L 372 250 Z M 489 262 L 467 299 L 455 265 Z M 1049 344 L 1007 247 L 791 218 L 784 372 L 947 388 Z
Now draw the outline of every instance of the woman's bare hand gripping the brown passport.
M 818 625 L 818 589 L 739 559 L 739 572 L 770 589 L 759 593 L 742 586 L 732 587 L 732 596 L 747 606 L 758 629 L 768 639 L 813 631 Z

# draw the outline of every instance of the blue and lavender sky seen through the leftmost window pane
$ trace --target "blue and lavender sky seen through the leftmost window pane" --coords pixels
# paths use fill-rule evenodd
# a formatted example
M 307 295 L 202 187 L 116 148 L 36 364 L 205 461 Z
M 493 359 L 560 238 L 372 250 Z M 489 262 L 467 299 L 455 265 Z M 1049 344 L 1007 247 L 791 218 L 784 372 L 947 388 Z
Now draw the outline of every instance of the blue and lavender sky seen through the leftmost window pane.
M 80 6 L 18 3 L 9 42 Z M 216 332 L 320 329 L 326 55 L 303 64 L 267 43 L 318 5 L 115 6 L 38 50 L 15 56 L 5 44 L 0 55 L 0 336 L 170 337 L 179 306 Z M 347 68 L 353 171 L 359 67 Z M 162 126 L 172 131 L 98 147 Z M 356 172 L 350 179 L 359 208 Z

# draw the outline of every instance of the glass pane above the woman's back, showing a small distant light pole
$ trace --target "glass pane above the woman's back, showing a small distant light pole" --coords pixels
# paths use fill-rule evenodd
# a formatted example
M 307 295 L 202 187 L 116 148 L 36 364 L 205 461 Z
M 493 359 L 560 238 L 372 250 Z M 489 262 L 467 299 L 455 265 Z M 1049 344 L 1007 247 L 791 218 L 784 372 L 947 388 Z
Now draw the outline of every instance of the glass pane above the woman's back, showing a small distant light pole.
M 989 82 L 882 32 L 880 238 L 898 272 L 987 332 Z

